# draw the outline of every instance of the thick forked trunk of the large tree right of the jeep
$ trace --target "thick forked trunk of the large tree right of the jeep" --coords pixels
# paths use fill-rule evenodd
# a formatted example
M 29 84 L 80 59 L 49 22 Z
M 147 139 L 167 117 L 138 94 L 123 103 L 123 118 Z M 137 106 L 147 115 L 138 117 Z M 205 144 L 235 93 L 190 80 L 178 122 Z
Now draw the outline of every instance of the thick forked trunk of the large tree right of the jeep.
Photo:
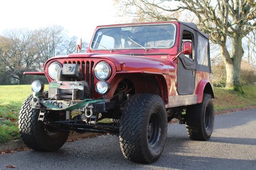
M 226 67 L 226 87 L 233 87 L 235 91 L 244 94 L 241 86 L 241 62 L 243 56 L 242 36 L 232 39 L 231 56 L 226 46 L 220 45 L 221 57 Z

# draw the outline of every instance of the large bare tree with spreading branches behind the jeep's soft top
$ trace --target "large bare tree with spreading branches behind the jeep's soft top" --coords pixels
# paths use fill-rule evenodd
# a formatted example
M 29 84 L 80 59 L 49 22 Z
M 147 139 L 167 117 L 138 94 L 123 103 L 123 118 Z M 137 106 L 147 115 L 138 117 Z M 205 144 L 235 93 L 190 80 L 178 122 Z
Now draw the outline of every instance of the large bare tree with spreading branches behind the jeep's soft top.
M 124 14 L 136 18 L 171 20 L 173 12 L 190 11 L 198 27 L 220 46 L 226 68 L 226 87 L 244 93 L 241 87 L 242 38 L 255 31 L 256 3 L 253 0 L 116 0 Z M 178 4 L 177 4 L 178 3 Z M 153 10 L 152 10 L 153 9 Z M 227 40 L 231 40 L 228 50 Z

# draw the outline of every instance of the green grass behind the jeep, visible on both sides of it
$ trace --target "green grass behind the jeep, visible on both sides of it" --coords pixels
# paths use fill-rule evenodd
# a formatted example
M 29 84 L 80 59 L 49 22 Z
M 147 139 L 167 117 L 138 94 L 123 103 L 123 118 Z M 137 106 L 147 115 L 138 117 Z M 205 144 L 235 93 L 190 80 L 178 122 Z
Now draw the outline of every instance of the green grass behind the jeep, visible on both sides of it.
M 246 95 L 226 88 L 215 88 L 215 110 L 256 106 L 256 86 L 245 86 L 243 89 Z M 0 86 L 0 143 L 19 139 L 19 109 L 31 93 L 30 85 Z

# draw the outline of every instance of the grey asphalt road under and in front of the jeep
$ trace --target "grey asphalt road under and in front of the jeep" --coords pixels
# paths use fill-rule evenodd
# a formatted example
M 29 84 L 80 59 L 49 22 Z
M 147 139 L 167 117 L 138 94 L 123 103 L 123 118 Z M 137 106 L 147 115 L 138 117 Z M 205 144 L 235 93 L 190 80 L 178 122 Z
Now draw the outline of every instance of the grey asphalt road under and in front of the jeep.
M 215 117 L 208 141 L 192 141 L 185 125 L 168 126 L 162 156 L 152 164 L 126 160 L 112 135 L 67 142 L 56 152 L 0 155 L 0 169 L 256 169 L 256 109 Z

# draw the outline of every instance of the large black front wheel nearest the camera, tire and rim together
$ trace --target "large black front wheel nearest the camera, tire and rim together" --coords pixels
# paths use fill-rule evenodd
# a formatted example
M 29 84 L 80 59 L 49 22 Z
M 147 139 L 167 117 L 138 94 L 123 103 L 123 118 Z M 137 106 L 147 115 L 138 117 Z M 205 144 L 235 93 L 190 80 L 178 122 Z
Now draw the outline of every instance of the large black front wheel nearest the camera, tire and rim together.
M 125 158 L 152 163 L 163 152 L 167 136 L 167 116 L 159 95 L 135 94 L 125 104 L 119 141 Z

